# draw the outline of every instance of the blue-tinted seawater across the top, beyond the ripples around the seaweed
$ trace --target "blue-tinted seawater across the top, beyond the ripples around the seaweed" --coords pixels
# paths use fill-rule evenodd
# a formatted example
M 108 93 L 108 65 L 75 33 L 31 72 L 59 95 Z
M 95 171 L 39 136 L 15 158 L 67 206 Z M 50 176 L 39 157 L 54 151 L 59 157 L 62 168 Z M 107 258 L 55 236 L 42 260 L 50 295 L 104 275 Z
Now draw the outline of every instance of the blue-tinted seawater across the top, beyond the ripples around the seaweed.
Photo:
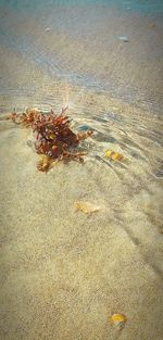
M 24 55 L 52 77 L 161 110 L 162 1 L 0 4 L 2 48 Z M 123 43 L 122 36 L 129 42 Z M 5 75 L 2 95 L 9 81 Z

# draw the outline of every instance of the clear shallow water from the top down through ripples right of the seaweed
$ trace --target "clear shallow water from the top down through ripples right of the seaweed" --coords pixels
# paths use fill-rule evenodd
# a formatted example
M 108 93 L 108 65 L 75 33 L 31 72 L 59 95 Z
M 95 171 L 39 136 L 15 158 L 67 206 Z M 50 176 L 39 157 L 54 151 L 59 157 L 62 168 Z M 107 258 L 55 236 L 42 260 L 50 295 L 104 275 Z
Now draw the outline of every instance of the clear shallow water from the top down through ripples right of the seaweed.
M 68 104 L 74 127 L 95 130 L 89 153 L 121 180 L 161 180 L 162 2 L 1 1 L 1 112 Z M 105 160 L 106 149 L 126 161 Z

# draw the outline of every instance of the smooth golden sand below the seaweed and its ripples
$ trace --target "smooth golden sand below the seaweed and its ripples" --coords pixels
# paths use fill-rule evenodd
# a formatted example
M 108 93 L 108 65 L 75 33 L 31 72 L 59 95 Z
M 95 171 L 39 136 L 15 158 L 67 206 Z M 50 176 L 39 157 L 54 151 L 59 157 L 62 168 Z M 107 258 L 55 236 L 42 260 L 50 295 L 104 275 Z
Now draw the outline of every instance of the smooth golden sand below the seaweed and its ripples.
M 160 340 L 161 276 L 115 218 L 123 185 L 115 203 L 99 163 L 39 173 L 28 129 L 1 124 L 1 339 Z M 76 212 L 90 198 L 108 210 Z M 128 318 L 121 335 L 113 313 Z

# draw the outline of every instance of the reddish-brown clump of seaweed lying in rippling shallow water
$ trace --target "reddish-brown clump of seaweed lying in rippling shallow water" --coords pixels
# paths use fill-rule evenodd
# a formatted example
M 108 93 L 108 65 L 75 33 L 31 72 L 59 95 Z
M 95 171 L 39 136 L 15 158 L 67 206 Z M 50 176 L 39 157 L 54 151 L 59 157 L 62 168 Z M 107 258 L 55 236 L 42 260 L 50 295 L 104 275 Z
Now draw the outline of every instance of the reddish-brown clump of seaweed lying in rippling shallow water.
M 65 115 L 67 106 L 57 115 L 52 110 L 50 113 L 42 113 L 38 110 L 27 110 L 25 113 L 12 113 L 12 121 L 25 127 L 32 127 L 35 136 L 36 152 L 42 154 L 37 168 L 47 172 L 57 161 L 84 162 L 83 155 L 86 152 L 73 152 L 78 143 L 90 137 L 92 130 L 75 134 L 70 127 L 71 119 Z

